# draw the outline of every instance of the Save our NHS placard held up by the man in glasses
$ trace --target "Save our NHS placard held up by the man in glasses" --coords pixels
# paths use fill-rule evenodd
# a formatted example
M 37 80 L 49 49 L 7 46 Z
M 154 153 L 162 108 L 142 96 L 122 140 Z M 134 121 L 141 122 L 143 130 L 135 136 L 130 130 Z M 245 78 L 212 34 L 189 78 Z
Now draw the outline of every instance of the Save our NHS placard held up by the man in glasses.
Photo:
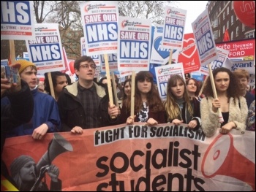
M 87 55 L 117 53 L 118 2 L 80 3 Z

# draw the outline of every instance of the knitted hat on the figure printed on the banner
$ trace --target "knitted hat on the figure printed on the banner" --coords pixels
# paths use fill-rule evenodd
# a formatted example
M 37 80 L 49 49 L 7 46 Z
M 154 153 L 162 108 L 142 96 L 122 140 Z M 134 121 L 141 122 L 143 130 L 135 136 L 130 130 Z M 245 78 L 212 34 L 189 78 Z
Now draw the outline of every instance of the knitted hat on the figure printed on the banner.
M 34 162 L 34 159 L 28 155 L 20 155 L 18 158 L 15 158 L 15 160 L 12 161 L 12 164 L 10 165 L 11 176 L 15 177 L 15 175 L 20 172 L 20 169 L 29 161 Z

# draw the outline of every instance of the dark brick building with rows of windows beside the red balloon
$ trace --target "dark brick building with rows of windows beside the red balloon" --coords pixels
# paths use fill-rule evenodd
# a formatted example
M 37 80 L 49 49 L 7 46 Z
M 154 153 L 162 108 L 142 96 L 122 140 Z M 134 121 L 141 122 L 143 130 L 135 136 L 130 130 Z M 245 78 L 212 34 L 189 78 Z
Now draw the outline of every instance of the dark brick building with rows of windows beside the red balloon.
M 223 42 L 227 29 L 230 41 L 255 38 L 255 28 L 250 28 L 241 23 L 233 9 L 233 1 L 208 1 L 211 27 L 215 42 Z

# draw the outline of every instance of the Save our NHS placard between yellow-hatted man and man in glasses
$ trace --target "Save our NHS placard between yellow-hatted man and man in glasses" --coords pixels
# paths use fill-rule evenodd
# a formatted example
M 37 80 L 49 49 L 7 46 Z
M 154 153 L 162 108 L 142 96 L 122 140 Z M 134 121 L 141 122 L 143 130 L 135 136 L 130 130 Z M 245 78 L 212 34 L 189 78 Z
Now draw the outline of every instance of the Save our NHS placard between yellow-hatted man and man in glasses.
M 34 40 L 26 40 L 30 61 L 37 66 L 39 74 L 65 69 L 59 25 L 57 23 L 35 24 Z

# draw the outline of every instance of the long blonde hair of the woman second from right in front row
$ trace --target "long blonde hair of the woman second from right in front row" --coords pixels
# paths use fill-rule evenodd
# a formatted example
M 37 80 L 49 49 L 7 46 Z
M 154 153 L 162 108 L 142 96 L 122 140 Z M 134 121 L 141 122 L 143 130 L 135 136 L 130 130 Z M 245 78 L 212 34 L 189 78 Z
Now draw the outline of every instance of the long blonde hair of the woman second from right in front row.
M 181 111 L 179 109 L 178 104 L 176 103 L 176 96 L 173 95 L 171 88 L 177 85 L 178 80 L 182 82 L 184 85 L 184 94 L 183 98 L 184 101 L 186 101 L 186 108 L 189 111 L 190 115 L 193 115 L 193 108 L 192 105 L 190 104 L 191 97 L 189 97 L 189 94 L 187 93 L 187 86 L 184 81 L 184 79 L 181 77 L 179 74 L 174 74 L 172 75 L 167 83 L 167 98 L 166 101 L 164 102 L 165 105 L 165 111 L 167 113 L 167 119 L 175 119 L 178 117 L 178 115 L 181 115 Z

